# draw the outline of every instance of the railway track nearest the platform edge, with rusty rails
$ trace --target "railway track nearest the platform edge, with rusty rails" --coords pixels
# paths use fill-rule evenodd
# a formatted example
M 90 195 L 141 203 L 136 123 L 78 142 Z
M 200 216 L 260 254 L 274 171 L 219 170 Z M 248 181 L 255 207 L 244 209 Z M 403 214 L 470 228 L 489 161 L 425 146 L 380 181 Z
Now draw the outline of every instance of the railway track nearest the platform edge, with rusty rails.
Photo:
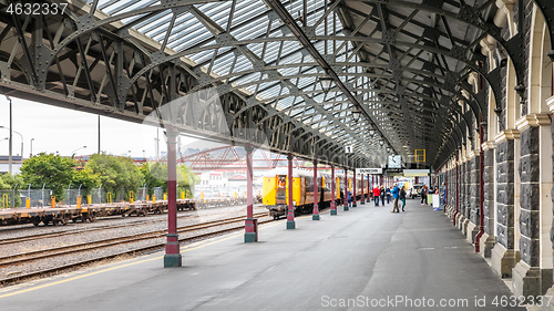
M 254 215 L 254 217 L 264 217 L 264 216 L 267 216 L 267 212 L 258 212 L 258 214 Z M 209 236 L 219 235 L 219 234 L 233 231 L 233 230 L 236 230 L 239 228 L 244 228 L 245 218 L 246 217 L 240 216 L 240 217 L 233 217 L 233 218 L 227 218 L 227 219 L 222 219 L 222 220 L 214 220 L 214 221 L 208 221 L 208 222 L 203 222 L 203 224 L 197 224 L 197 225 L 192 225 L 192 226 L 179 227 L 179 228 L 177 228 L 178 234 L 191 234 L 187 237 L 179 237 L 179 242 L 193 241 L 193 240 L 206 238 Z M 265 222 L 269 222 L 269 221 L 274 221 L 274 220 L 273 219 L 265 219 L 265 220 L 259 221 L 258 224 L 265 224 Z M 227 225 L 233 225 L 233 224 L 237 224 L 237 225 L 233 226 L 233 227 L 227 226 Z M 222 226 L 227 226 L 227 227 L 214 230 L 214 228 L 222 227 Z M 208 230 L 208 232 L 194 234 L 195 231 L 205 231 L 205 230 Z M 79 243 L 79 245 L 59 247 L 59 248 L 49 249 L 49 250 L 30 251 L 30 252 L 17 253 L 17 255 L 12 255 L 12 256 L 4 256 L 4 257 L 0 258 L 0 268 L 4 268 L 7 266 L 12 266 L 12 265 L 18 265 L 18 266 L 32 265 L 33 261 L 41 260 L 41 259 L 48 259 L 48 258 L 58 257 L 58 256 L 70 256 L 70 255 L 74 255 L 78 252 L 95 251 L 99 249 L 105 249 L 105 248 L 110 248 L 110 247 L 117 246 L 121 243 L 133 243 L 133 242 L 138 242 L 138 241 L 144 241 L 144 240 L 155 240 L 155 239 L 161 240 L 161 241 L 155 241 L 154 243 L 151 243 L 148 246 L 135 247 L 135 248 L 127 249 L 125 251 L 112 252 L 112 253 L 104 255 L 104 256 L 95 256 L 95 257 L 90 258 L 90 259 L 79 260 L 75 262 L 70 262 L 70 263 L 61 265 L 58 267 L 42 269 L 39 271 L 28 272 L 28 273 L 23 273 L 23 274 L 17 273 L 17 276 L 9 274 L 8 278 L 0 279 L 0 283 L 1 284 L 12 283 L 12 282 L 21 281 L 21 280 L 29 279 L 29 278 L 40 277 L 40 276 L 49 274 L 52 272 L 66 270 L 66 269 L 75 268 L 75 267 L 81 267 L 83 265 L 89 265 L 89 263 L 105 260 L 105 259 L 115 258 L 115 257 L 123 256 L 123 255 L 133 255 L 133 253 L 145 252 L 145 251 L 150 251 L 150 250 L 154 250 L 154 249 L 160 249 L 160 248 L 163 248 L 165 246 L 165 240 L 163 240 L 161 238 L 164 238 L 166 232 L 167 232 L 166 230 L 156 230 L 156 231 L 151 231 L 151 232 L 145 232 L 145 234 L 131 235 L 131 236 L 125 236 L 125 237 L 101 240 L 101 241 L 96 241 L 96 242 L 92 242 L 92 243 L 91 242 Z

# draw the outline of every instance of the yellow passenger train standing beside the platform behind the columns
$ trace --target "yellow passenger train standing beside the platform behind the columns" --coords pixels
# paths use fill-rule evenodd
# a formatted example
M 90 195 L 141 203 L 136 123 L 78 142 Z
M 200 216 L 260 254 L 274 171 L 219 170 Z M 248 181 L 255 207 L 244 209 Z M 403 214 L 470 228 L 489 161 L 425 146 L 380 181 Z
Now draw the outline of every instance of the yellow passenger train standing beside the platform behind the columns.
M 278 167 L 268 170 L 263 176 L 263 193 L 261 203 L 269 210 L 269 215 L 275 219 L 287 215 L 288 210 L 288 168 Z M 345 177 L 335 176 L 337 204 L 342 201 L 345 197 Z M 349 190 L 352 193 L 352 178 L 348 178 Z M 327 173 L 317 174 L 318 187 L 318 207 L 320 209 L 329 207 L 331 196 L 331 175 Z M 361 189 L 361 179 L 357 180 L 357 197 L 361 198 L 367 194 L 367 180 Z M 314 210 L 314 172 L 306 169 L 293 169 L 293 206 L 295 216 L 299 214 L 309 214 Z

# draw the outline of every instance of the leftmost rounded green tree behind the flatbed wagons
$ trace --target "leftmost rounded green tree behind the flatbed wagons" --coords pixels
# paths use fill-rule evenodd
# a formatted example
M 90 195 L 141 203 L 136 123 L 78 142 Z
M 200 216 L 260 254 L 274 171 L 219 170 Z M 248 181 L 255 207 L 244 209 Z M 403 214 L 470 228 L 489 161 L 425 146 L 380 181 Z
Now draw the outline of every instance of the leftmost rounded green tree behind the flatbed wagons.
M 73 180 L 73 158 L 41 153 L 23 162 L 21 177 L 24 184 L 52 189 L 57 201 L 65 198 L 64 189 Z

